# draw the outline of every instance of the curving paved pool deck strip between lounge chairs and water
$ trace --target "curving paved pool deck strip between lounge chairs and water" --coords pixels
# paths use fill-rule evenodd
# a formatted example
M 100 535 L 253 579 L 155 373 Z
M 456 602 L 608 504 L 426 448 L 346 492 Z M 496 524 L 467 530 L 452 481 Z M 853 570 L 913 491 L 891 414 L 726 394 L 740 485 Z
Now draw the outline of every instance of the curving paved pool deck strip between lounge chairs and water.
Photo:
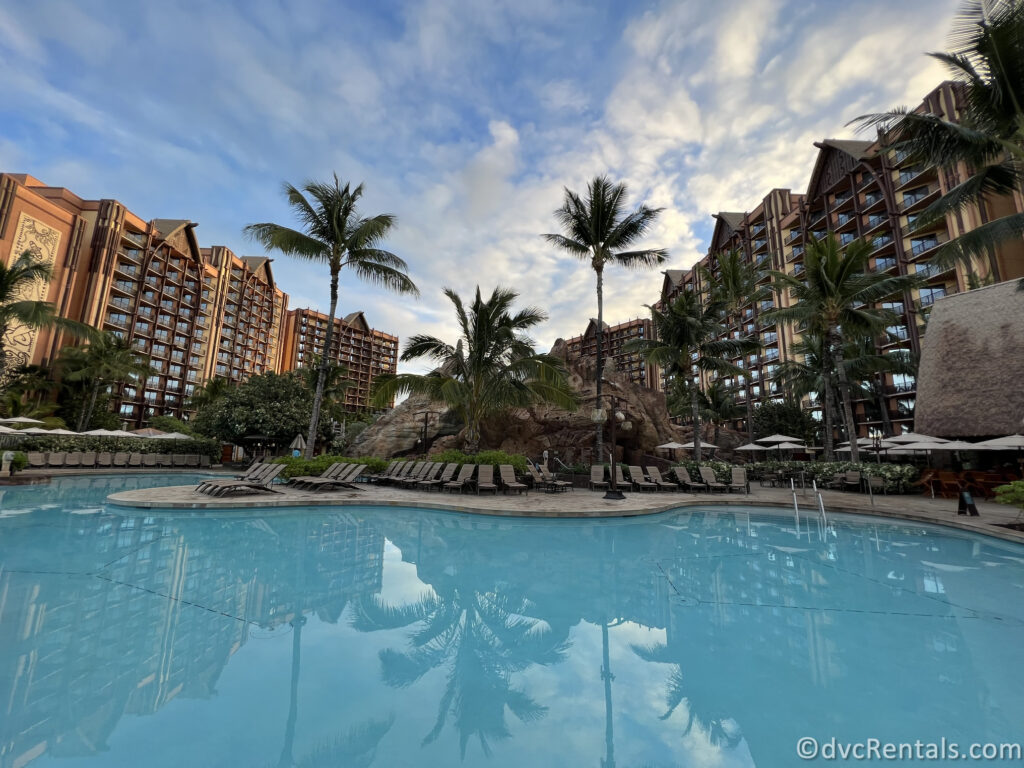
M 407 490 L 393 486 L 358 484 L 357 490 L 304 492 L 285 485 L 274 487 L 278 493 L 259 496 L 215 498 L 197 494 L 193 485 L 144 488 L 112 494 L 108 502 L 122 507 L 140 509 L 226 510 L 265 509 L 282 507 L 418 507 L 449 512 L 492 515 L 500 517 L 546 518 L 600 518 L 631 517 L 657 514 L 673 509 L 708 505 L 752 505 L 778 507 L 780 512 L 793 511 L 793 495 L 788 488 L 751 486 L 751 494 L 690 494 L 690 493 L 627 493 L 624 501 L 603 499 L 601 492 L 582 488 L 546 494 L 530 492 L 522 495 L 502 494 L 439 494 L 437 492 Z M 1000 527 L 999 523 L 1013 522 L 1018 510 L 1013 507 L 978 501 L 980 517 L 956 514 L 956 501 L 930 499 L 923 496 L 876 496 L 874 504 L 865 494 L 822 492 L 825 512 L 845 512 L 878 515 L 922 522 L 950 525 L 987 536 L 1024 543 L 1024 531 Z M 804 515 L 813 514 L 816 502 L 810 488 L 806 494 L 797 490 L 797 499 Z

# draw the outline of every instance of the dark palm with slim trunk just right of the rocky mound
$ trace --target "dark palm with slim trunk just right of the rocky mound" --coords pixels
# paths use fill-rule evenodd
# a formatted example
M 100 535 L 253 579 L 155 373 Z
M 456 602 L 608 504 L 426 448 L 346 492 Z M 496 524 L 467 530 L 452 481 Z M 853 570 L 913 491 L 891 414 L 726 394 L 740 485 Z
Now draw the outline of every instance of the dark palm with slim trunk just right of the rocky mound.
M 690 386 L 693 418 L 693 458 L 700 461 L 700 399 L 705 374 L 740 376 L 743 369 L 729 360 L 755 351 L 760 344 L 748 337 L 724 338 L 725 303 L 712 293 L 701 301 L 696 291 L 683 291 L 665 310 L 651 308 L 653 339 L 637 339 L 627 348 L 665 368 L 670 376 L 685 377 Z

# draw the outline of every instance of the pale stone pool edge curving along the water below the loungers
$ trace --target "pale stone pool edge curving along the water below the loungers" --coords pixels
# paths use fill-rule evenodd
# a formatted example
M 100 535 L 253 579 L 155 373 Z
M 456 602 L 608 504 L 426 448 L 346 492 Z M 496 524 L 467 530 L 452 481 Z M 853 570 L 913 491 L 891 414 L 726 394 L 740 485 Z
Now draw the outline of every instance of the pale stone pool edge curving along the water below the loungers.
M 168 495 L 170 492 L 186 492 L 191 499 L 187 500 L 175 500 L 175 499 L 156 499 L 153 498 L 154 494 L 161 494 L 162 496 Z M 591 492 L 584 492 L 588 495 Z M 258 498 L 241 498 L 241 499 L 195 499 L 195 493 L 191 485 L 172 485 L 164 486 L 158 488 L 144 488 L 138 490 L 127 490 L 117 494 L 112 494 L 106 497 L 106 503 L 118 507 L 124 508 L 134 508 L 134 509 L 161 509 L 161 510 L 181 510 L 181 511 L 193 511 L 193 512 L 203 512 L 203 511 L 228 511 L 232 509 L 252 511 L 257 509 L 288 509 L 288 508 L 300 508 L 300 507 L 412 507 L 417 509 L 427 509 L 431 511 L 438 512 L 456 512 L 468 515 L 478 515 L 484 517 L 504 517 L 504 518 L 516 518 L 516 519 L 601 519 L 601 518 L 628 518 L 628 517 L 644 517 L 649 515 L 659 515 L 666 512 L 671 512 L 677 509 L 685 509 L 686 507 L 760 507 L 760 508 L 772 508 L 778 509 L 780 511 L 791 511 L 793 510 L 793 505 L 791 502 L 783 502 L 773 499 L 758 499 L 753 500 L 746 495 L 729 495 L 726 497 L 715 496 L 715 497 L 698 497 L 693 495 L 683 495 L 674 494 L 674 498 L 671 502 L 665 504 L 655 504 L 653 506 L 643 506 L 643 507 L 631 507 L 624 509 L 616 503 L 608 503 L 608 508 L 597 509 L 577 509 L 577 510 L 550 510 L 542 509 L 539 511 L 524 511 L 522 509 L 510 509 L 502 508 L 499 506 L 486 507 L 474 504 L 467 504 L 465 502 L 466 497 L 456 497 L 454 495 L 445 497 L 443 502 L 441 501 L 431 501 L 429 497 L 424 498 L 424 495 L 416 492 L 406 492 L 397 497 L 388 498 L 372 498 L 364 497 L 359 495 L 353 495 L 354 492 L 349 492 L 345 496 L 313 496 L 309 495 L 306 498 L 297 498 L 295 496 L 289 496 L 287 498 L 267 498 L 261 496 Z M 148 498 L 146 498 L 148 497 Z M 434 497 L 436 498 L 436 497 Z M 502 499 L 503 497 L 498 497 Z M 650 498 L 649 495 L 645 495 L 640 498 Z M 664 498 L 664 497 L 663 497 Z M 452 501 L 447 501 L 451 499 Z M 594 499 L 594 501 L 598 501 Z M 813 507 L 808 507 L 806 504 L 801 506 L 801 512 L 805 517 L 810 514 L 815 514 Z M 870 506 L 860 506 L 860 505 L 849 505 L 842 503 L 835 503 L 833 500 L 826 503 L 827 514 L 843 514 L 843 515 L 862 515 L 870 517 L 881 517 L 891 520 L 907 520 L 910 522 L 923 522 L 934 525 L 945 525 L 947 527 L 957 528 L 959 530 L 966 530 L 973 534 L 979 534 L 982 536 L 991 537 L 993 539 L 1000 539 L 1002 541 L 1014 542 L 1016 544 L 1024 544 L 1024 531 L 1014 530 L 1013 528 L 1002 527 L 996 522 L 985 517 L 949 517 L 940 516 L 937 511 L 934 514 L 928 512 L 915 511 L 915 510 L 894 510 L 894 509 L 884 509 L 879 507 Z M 1007 515 L 1012 516 L 1012 512 Z M 1006 520 L 1004 520 L 1006 521 Z

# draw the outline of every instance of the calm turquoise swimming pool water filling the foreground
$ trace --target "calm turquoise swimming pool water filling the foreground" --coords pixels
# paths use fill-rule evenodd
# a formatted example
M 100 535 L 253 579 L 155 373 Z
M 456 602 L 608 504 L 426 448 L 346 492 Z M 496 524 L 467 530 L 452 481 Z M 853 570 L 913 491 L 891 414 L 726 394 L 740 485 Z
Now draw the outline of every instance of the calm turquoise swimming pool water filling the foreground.
M 1024 741 L 1024 547 L 867 518 L 798 536 L 738 507 L 103 504 L 182 482 L 3 492 L 0 768 L 773 768 L 802 736 Z

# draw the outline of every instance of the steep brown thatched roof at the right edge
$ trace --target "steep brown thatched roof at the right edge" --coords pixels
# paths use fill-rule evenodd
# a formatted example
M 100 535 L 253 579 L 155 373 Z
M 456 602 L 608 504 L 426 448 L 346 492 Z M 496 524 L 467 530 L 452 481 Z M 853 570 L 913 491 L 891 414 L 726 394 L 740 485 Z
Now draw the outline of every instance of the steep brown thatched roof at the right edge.
M 1017 281 L 935 302 L 921 343 L 913 428 L 942 437 L 1024 429 L 1024 291 Z

